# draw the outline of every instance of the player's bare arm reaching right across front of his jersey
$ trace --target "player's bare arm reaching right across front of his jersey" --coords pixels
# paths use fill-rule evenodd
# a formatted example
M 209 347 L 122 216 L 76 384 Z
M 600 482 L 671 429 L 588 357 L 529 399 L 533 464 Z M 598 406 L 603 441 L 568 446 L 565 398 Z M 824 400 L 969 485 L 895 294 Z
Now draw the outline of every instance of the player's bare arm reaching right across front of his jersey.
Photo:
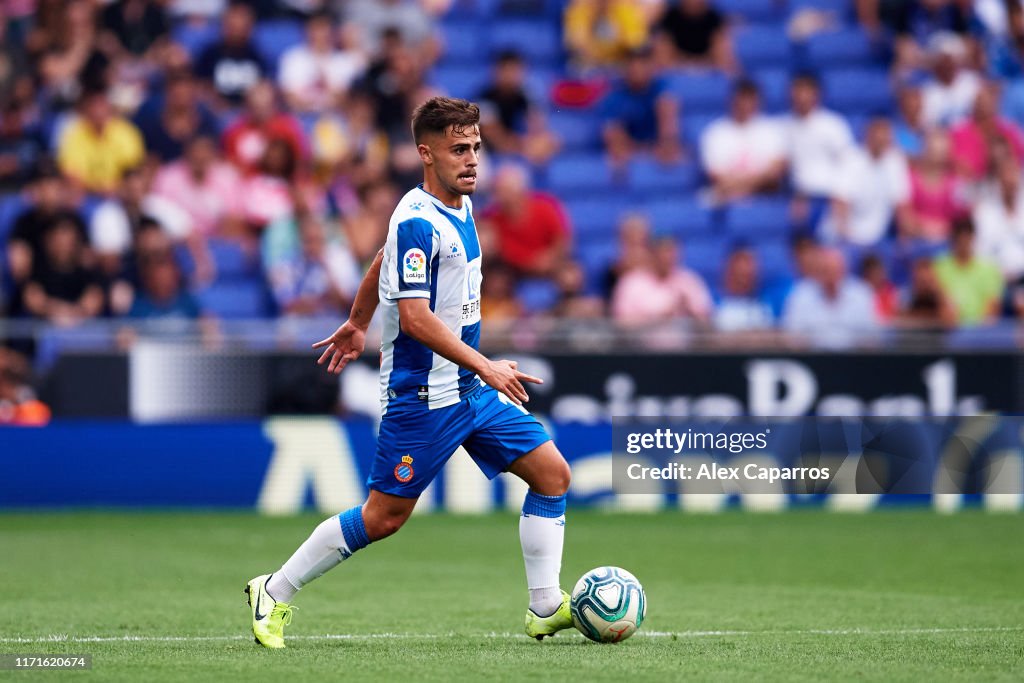
M 430 300 L 398 300 L 398 325 L 401 331 L 460 368 L 476 373 L 480 379 L 508 396 L 516 405 L 529 400 L 523 382 L 543 384 L 544 380 L 521 373 L 515 360 L 490 360 L 460 339 L 430 310 Z

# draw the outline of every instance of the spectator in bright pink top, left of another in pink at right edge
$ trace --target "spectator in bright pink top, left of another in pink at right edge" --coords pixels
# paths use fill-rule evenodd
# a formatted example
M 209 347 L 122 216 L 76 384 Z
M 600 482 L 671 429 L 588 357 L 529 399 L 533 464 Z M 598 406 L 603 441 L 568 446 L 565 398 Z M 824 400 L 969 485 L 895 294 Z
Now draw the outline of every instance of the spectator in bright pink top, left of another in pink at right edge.
M 910 209 L 900 233 L 904 238 L 945 242 L 953 219 L 967 211 L 963 195 L 952 168 L 949 136 L 934 130 L 925 138 L 921 159 L 910 168 Z

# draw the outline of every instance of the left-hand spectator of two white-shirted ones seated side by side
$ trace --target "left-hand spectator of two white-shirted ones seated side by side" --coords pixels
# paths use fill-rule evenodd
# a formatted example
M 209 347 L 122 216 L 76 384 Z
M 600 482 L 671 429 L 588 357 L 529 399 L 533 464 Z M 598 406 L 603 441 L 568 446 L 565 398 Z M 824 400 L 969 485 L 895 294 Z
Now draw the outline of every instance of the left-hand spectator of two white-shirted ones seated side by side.
M 716 120 L 700 136 L 700 161 L 719 201 L 774 191 L 782 181 L 785 145 L 781 131 L 760 110 L 757 84 L 740 81 L 732 93 L 729 116 Z

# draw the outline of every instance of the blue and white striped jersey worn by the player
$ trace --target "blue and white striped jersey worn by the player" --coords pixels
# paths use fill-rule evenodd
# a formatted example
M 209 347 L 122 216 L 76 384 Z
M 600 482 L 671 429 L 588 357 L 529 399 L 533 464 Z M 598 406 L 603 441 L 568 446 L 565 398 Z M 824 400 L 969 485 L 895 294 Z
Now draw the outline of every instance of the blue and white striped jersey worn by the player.
M 398 299 L 422 297 L 460 336 L 480 343 L 480 243 L 473 204 L 444 206 L 420 185 L 398 203 L 388 226 L 381 263 L 381 409 L 433 410 L 459 402 L 480 385 L 480 378 L 459 368 L 398 326 Z

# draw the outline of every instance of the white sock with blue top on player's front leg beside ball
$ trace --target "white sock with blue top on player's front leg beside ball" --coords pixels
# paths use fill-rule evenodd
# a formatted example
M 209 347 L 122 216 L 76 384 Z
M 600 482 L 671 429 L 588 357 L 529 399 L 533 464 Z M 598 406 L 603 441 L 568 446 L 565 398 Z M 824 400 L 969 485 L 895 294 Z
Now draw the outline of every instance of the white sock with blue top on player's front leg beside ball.
M 519 543 L 526 565 L 526 588 L 529 589 L 529 608 L 538 616 L 549 616 L 562 603 L 562 593 L 558 587 L 558 573 L 562 568 L 562 543 L 565 538 L 564 497 L 547 498 L 541 505 L 551 502 L 547 510 L 537 509 L 541 499 L 532 492 L 526 497 L 523 514 L 519 518 Z M 560 500 L 558 500 L 560 499 Z M 556 503 L 557 501 L 557 503 Z M 558 504 L 561 509 L 558 510 Z M 542 516 L 561 512 L 558 516 Z M 530 514 L 534 512 L 534 514 Z M 538 514 L 538 513 L 541 514 Z

